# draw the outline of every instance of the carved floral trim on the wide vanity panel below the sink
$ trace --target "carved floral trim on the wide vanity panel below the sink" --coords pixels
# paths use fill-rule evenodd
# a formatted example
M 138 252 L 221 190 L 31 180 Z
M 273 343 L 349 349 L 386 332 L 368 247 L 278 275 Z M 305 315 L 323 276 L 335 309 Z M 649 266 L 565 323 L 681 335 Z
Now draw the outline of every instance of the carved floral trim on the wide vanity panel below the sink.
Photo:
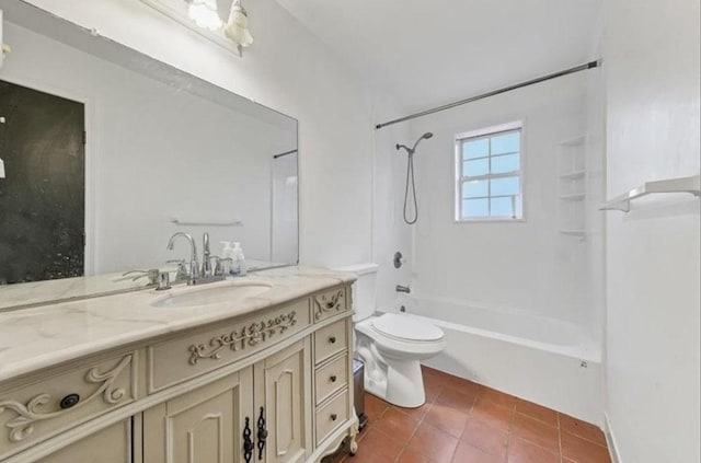
M 196 364 L 200 359 L 219 360 L 221 351 L 227 347 L 233 351 L 245 349 L 245 346 L 255 346 L 265 343 L 275 334 L 285 333 L 287 328 L 297 323 L 297 312 L 278 315 L 264 322 L 255 322 L 229 334 L 215 336 L 209 343 L 193 344 L 189 346 L 189 364 Z

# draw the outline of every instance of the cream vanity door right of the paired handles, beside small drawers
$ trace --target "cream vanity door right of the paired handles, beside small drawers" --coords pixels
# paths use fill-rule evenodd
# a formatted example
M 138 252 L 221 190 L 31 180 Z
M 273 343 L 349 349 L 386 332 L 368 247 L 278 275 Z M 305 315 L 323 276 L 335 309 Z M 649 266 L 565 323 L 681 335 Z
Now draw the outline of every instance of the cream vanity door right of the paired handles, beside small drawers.
M 254 366 L 256 453 L 258 423 L 267 431 L 264 463 L 299 463 L 311 453 L 311 349 L 309 337 Z M 262 414 L 262 415 L 261 415 Z M 255 455 L 260 462 L 258 454 Z

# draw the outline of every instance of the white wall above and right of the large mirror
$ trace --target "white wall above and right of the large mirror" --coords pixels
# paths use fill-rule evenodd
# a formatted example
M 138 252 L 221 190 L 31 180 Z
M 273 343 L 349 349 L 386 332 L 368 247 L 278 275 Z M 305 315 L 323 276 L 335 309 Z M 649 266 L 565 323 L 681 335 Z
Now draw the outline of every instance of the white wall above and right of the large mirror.
M 300 261 L 367 262 L 372 123 L 358 79 L 274 0 L 246 3 L 241 59 L 138 0 L 30 0 L 156 59 L 299 120 Z

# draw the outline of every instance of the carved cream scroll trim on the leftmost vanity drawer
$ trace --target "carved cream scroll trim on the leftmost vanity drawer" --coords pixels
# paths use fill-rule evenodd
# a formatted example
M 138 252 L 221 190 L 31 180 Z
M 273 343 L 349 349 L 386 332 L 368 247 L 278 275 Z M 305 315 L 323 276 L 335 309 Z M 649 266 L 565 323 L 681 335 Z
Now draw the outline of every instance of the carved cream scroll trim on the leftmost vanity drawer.
M 34 424 L 36 421 L 43 421 L 45 419 L 56 418 L 68 412 L 76 410 L 83 407 L 85 404 L 92 402 L 93 398 L 102 395 L 102 400 L 107 404 L 114 405 L 124 398 L 126 391 L 122 387 L 114 387 L 114 382 L 126 368 L 131 363 L 133 355 L 125 356 L 116 367 L 112 370 L 100 372 L 97 368 L 91 368 L 85 373 L 85 382 L 92 384 L 100 384 L 100 386 L 90 396 L 82 401 L 76 402 L 74 405 L 58 409 L 56 412 L 42 412 L 42 407 L 51 401 L 51 395 L 47 393 L 37 394 L 32 397 L 26 404 L 22 404 L 16 401 L 2 401 L 0 402 L 0 415 L 5 409 L 14 412 L 18 416 L 8 423 L 5 427 L 10 429 L 10 440 L 12 442 L 20 442 L 24 440 L 34 431 Z

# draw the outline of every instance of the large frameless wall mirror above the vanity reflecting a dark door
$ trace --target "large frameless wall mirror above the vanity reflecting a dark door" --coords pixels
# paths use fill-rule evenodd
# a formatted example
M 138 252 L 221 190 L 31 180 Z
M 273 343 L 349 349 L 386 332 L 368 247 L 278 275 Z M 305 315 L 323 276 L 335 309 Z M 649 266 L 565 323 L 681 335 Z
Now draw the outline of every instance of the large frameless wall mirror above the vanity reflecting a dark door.
M 249 267 L 297 263 L 297 120 L 21 1 L 0 10 L 0 310 L 143 286 L 123 274 L 187 258 L 166 250 L 179 231 L 200 252 L 208 232 L 215 255 L 241 242 Z

